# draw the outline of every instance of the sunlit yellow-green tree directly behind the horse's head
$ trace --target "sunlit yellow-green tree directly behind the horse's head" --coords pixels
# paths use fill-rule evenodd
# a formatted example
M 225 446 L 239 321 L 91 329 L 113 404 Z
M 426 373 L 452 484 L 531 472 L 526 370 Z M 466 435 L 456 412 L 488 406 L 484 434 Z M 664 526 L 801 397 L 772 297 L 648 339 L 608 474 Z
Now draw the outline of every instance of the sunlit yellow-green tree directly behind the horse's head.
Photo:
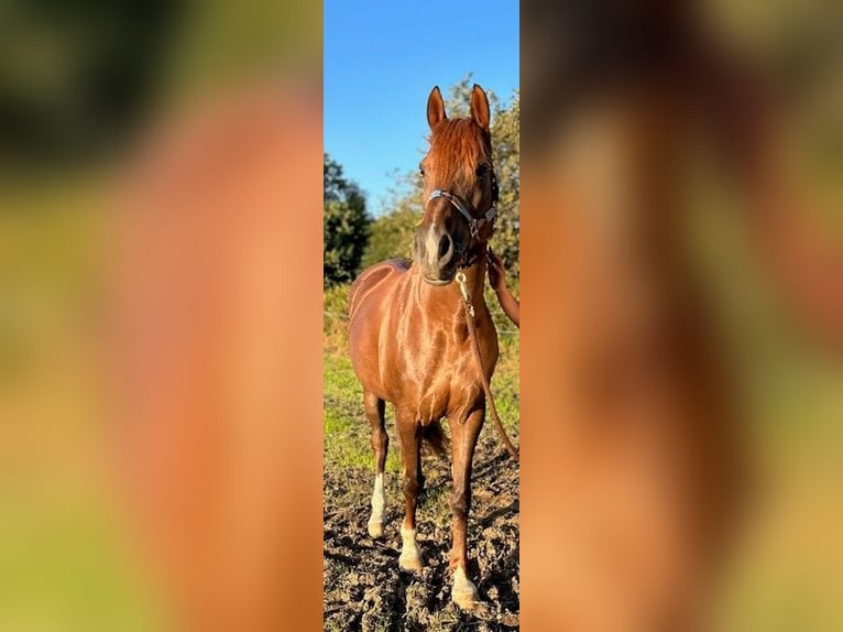
M 473 80 L 469 74 L 452 86 L 446 98 L 448 116 L 468 116 Z M 508 105 L 502 105 L 497 96 L 486 90 L 492 109 L 492 151 L 495 175 L 500 189 L 497 219 L 492 248 L 504 260 L 507 275 L 516 280 L 519 273 L 519 205 L 521 179 L 521 98 L 515 90 Z M 413 231 L 421 219 L 421 177 L 416 172 L 396 176 L 387 205 L 390 211 L 372 225 L 371 239 L 363 262 L 371 265 L 394 257 L 408 257 Z

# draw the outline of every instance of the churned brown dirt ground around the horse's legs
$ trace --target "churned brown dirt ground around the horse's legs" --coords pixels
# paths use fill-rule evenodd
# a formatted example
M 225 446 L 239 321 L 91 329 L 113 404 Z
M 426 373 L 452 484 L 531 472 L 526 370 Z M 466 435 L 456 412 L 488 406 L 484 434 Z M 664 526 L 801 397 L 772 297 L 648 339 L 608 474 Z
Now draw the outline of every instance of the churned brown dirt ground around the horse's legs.
M 392 433 L 390 446 L 397 446 Z M 423 471 L 417 524 L 426 567 L 410 574 L 398 569 L 398 475 L 386 472 L 385 534 L 373 540 L 366 531 L 373 472 L 326 464 L 325 630 L 518 629 L 518 465 L 486 421 L 474 455 L 469 517 L 469 575 L 484 603 L 471 613 L 450 601 L 450 458 L 426 456 Z

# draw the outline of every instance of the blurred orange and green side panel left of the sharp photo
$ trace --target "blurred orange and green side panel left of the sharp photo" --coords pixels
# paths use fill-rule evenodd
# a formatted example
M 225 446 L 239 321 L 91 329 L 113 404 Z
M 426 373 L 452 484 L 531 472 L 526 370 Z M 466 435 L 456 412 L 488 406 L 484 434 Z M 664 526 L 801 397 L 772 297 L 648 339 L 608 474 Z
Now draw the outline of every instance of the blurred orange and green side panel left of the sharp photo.
M 4 7 L 0 629 L 318 625 L 320 18 Z

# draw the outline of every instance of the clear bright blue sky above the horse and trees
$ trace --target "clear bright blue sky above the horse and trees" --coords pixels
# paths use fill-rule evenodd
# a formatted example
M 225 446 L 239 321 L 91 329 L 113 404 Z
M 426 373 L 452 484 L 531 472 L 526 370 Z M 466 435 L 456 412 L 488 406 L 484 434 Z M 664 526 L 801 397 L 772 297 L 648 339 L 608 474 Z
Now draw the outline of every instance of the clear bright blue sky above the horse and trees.
M 427 97 L 469 73 L 504 102 L 518 87 L 518 2 L 326 0 L 325 151 L 381 210 L 391 174 L 414 171 Z

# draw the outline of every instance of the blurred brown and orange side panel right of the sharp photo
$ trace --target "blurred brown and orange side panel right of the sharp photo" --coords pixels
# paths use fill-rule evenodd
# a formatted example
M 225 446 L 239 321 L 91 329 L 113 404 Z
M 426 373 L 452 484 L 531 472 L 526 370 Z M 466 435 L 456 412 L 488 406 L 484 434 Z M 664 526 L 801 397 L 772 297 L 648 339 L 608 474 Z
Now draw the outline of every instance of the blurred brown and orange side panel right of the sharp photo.
M 836 9 L 522 4 L 525 628 L 843 625 Z

